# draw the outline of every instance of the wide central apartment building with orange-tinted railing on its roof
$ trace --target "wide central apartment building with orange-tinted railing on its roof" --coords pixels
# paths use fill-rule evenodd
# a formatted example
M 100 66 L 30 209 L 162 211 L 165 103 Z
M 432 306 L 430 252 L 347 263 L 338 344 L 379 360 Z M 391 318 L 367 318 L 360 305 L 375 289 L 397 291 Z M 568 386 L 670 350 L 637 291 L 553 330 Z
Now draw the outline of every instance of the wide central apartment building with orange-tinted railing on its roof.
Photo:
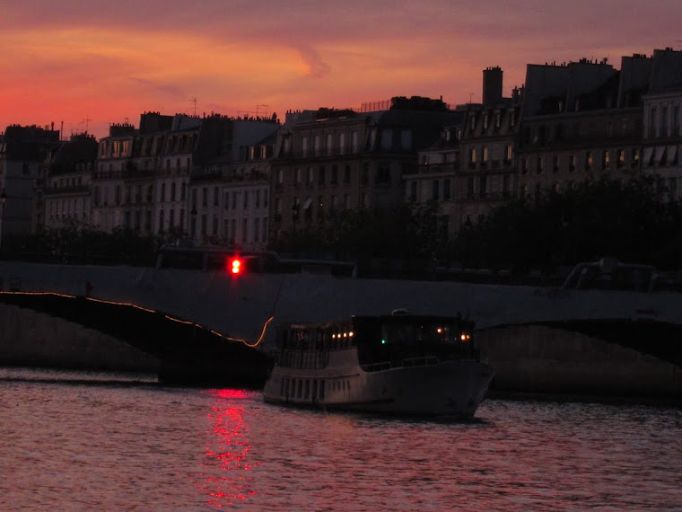
M 405 200 L 417 154 L 460 115 L 442 100 L 395 97 L 355 110 L 287 112 L 271 163 L 271 233 L 332 223 L 342 210 Z

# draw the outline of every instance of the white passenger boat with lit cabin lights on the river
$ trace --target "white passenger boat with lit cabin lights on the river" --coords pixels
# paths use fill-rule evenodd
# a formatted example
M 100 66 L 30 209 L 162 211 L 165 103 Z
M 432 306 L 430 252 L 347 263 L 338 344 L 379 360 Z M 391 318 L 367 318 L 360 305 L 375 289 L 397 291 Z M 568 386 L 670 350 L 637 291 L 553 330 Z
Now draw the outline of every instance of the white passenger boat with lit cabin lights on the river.
M 461 317 L 353 316 L 277 325 L 275 366 L 263 398 L 324 409 L 474 415 L 494 370 Z

